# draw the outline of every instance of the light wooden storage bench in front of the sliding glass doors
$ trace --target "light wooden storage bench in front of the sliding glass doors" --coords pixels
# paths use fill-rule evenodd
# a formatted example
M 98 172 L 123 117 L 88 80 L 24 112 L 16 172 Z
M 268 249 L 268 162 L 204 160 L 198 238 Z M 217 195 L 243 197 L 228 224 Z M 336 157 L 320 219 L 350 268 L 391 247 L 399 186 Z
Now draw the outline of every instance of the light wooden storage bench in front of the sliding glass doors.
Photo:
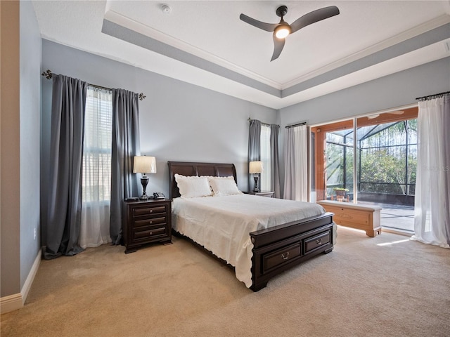
M 352 204 L 342 201 L 319 200 L 327 212 L 335 213 L 333 220 L 338 225 L 365 230 L 369 237 L 381 234 L 380 206 Z

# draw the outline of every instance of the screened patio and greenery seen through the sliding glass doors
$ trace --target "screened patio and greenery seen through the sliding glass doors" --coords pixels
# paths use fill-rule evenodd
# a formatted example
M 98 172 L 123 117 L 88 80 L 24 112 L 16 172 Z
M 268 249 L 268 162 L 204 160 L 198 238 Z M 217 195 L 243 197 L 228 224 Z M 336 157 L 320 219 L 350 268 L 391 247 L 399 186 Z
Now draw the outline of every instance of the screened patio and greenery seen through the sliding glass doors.
M 417 119 L 328 132 L 326 194 L 346 189 L 344 201 L 378 205 L 381 226 L 413 234 L 417 167 Z M 354 144 L 356 143 L 356 156 Z M 356 165 L 354 165 L 356 160 Z M 356 174 L 356 179 L 354 175 Z

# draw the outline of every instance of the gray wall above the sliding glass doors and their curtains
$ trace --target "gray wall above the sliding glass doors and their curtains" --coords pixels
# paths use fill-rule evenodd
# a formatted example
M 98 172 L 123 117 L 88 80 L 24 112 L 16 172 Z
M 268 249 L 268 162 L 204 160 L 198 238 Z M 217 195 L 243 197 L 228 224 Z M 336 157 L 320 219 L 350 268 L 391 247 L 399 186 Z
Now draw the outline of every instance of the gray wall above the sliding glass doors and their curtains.
M 368 81 L 314 100 L 280 110 L 283 158 L 285 126 L 300 121 L 308 125 L 325 124 L 394 107 L 413 105 L 416 98 L 450 91 L 450 57 Z M 284 173 L 284 163 L 281 163 Z M 283 185 L 284 176 L 281 177 Z

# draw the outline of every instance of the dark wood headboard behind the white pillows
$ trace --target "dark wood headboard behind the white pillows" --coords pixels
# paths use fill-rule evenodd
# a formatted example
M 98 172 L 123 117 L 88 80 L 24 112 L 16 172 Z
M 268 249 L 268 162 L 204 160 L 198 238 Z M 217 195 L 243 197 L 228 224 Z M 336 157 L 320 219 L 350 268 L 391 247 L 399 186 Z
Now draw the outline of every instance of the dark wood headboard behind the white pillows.
M 218 163 L 198 163 L 188 161 L 167 161 L 169 165 L 169 188 L 170 199 L 180 197 L 180 191 L 175 181 L 175 174 L 181 176 L 216 176 L 229 177 L 233 176 L 236 184 L 236 167 L 234 164 L 218 164 Z

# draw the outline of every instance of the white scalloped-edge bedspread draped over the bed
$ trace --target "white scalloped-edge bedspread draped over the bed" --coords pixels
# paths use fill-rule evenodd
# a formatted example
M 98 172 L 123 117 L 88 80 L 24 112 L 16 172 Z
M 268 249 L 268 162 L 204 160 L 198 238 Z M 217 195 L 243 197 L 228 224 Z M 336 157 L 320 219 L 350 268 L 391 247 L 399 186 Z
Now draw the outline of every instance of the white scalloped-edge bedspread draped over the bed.
M 325 210 L 319 204 L 250 194 L 176 198 L 172 227 L 233 265 L 236 277 L 250 287 L 253 244 L 249 233 L 322 213 Z

